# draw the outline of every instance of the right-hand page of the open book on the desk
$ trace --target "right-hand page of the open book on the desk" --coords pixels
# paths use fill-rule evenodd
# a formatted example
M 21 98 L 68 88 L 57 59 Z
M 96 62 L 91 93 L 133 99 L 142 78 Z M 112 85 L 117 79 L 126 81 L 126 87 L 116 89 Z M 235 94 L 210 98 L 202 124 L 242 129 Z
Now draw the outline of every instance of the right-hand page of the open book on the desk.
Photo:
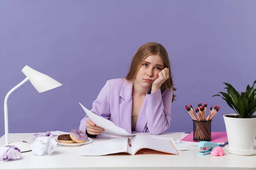
M 150 136 L 139 135 L 131 138 L 131 150 L 133 155 L 143 148 L 178 155 L 176 148 L 168 139 L 157 139 Z

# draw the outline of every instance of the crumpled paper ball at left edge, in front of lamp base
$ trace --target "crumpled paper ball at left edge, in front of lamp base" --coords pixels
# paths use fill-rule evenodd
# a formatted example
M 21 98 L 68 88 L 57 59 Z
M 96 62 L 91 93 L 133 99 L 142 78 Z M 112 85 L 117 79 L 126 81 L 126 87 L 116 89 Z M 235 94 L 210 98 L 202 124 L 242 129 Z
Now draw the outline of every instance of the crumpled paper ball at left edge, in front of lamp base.
M 5 147 L 0 147 L 0 160 L 16 160 L 21 158 L 21 153 L 19 148 L 14 145 L 6 145 Z

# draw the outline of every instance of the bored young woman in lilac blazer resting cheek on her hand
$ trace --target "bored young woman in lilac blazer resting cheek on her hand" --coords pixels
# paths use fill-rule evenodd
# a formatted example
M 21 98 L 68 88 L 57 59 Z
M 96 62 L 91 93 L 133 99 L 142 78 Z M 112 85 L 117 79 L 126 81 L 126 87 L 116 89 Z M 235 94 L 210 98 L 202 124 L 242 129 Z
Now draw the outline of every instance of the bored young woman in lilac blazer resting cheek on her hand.
M 149 42 L 138 49 L 125 78 L 106 82 L 91 111 L 129 133 L 158 135 L 170 126 L 173 91 L 176 88 L 166 49 Z M 81 120 L 79 129 L 89 137 L 104 131 L 88 116 Z

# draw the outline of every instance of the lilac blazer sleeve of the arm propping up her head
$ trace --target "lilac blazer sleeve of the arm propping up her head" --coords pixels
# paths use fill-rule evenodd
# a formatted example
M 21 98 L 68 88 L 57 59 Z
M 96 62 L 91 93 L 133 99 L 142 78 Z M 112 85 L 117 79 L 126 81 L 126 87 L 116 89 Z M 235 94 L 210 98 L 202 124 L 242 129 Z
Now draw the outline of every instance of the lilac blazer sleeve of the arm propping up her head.
M 153 94 L 147 91 L 146 117 L 147 127 L 152 135 L 158 135 L 167 130 L 171 124 L 171 108 L 173 91 L 166 91 L 163 96 L 158 89 Z

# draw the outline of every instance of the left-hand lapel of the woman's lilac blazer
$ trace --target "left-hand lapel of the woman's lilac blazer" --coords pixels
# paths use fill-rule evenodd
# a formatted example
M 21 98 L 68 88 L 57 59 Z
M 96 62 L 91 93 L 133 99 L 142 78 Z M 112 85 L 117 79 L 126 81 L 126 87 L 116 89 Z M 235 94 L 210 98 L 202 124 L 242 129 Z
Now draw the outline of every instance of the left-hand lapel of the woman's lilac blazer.
M 131 133 L 131 111 L 132 111 L 132 88 L 133 84 L 125 79 L 120 92 L 120 127 Z

